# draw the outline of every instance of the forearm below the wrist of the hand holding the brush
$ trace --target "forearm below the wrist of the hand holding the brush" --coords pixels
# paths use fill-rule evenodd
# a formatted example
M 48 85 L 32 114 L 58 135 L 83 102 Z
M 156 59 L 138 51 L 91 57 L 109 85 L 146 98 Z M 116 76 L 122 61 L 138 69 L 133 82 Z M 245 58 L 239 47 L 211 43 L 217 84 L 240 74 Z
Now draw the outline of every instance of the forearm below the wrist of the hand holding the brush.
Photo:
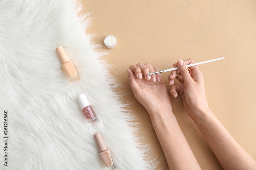
M 199 111 L 193 118 L 198 128 L 224 169 L 256 169 L 256 162 L 234 140 L 228 130 L 210 111 Z

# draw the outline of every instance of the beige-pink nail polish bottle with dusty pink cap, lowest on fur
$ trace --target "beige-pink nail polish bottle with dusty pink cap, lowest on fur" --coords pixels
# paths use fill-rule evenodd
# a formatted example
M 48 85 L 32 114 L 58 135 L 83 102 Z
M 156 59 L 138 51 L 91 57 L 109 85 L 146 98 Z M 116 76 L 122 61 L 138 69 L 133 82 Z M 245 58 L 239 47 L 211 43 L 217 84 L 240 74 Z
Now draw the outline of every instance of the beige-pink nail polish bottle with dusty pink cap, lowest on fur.
M 105 142 L 103 141 L 101 134 L 100 133 L 95 133 L 93 135 L 93 137 L 96 141 L 97 147 L 98 147 L 99 152 L 100 152 L 99 156 L 100 156 L 100 159 L 101 159 L 105 169 L 110 170 L 110 169 L 116 168 L 115 161 L 114 161 L 114 159 L 111 155 L 110 150 L 106 147 Z

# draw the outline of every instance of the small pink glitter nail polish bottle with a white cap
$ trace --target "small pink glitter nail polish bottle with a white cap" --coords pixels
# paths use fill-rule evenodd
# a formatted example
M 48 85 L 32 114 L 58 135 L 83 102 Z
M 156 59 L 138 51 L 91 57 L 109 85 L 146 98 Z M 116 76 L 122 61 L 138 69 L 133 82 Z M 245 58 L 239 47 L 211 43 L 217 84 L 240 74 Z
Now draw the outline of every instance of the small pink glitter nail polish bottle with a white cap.
M 84 94 L 79 95 L 77 97 L 77 101 L 88 123 L 91 123 L 98 119 Z

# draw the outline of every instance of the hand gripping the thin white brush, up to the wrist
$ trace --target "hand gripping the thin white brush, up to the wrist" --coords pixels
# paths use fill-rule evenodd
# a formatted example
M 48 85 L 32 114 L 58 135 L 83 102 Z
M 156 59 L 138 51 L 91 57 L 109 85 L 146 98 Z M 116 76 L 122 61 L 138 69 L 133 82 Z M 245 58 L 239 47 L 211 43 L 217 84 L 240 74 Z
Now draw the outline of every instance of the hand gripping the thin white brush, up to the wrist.
M 182 99 L 184 108 L 188 115 L 193 119 L 201 116 L 201 113 L 209 112 L 209 106 L 205 96 L 204 77 L 198 66 L 187 68 L 187 64 L 195 63 L 192 59 L 179 60 L 173 64 L 178 70 L 171 71 L 168 80 L 171 85 L 170 93 L 173 97 Z M 174 79 L 180 85 L 174 85 Z

